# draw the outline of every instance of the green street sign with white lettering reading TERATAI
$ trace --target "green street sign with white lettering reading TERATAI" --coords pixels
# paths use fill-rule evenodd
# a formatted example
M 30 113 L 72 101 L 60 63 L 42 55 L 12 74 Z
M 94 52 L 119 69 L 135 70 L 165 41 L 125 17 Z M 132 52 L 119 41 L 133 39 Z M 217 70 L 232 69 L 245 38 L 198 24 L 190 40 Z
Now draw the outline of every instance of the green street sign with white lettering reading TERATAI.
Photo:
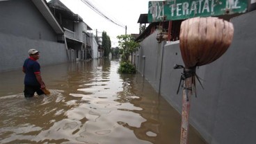
M 246 12 L 248 0 L 168 0 L 149 1 L 148 22 L 191 17 L 211 17 Z

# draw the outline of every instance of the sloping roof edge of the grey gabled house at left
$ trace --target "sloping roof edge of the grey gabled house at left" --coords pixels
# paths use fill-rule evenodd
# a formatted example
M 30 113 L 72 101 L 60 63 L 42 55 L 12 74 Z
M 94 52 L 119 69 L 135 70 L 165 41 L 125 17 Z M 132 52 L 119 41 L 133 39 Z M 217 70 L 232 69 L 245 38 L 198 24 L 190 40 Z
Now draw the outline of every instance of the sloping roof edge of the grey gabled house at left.
M 63 34 L 64 30 L 58 24 L 58 21 L 55 19 L 54 15 L 52 15 L 51 10 L 47 6 L 47 2 L 45 0 L 31 0 L 35 4 L 36 8 L 41 12 L 41 14 L 45 17 L 49 25 L 54 29 L 57 34 Z

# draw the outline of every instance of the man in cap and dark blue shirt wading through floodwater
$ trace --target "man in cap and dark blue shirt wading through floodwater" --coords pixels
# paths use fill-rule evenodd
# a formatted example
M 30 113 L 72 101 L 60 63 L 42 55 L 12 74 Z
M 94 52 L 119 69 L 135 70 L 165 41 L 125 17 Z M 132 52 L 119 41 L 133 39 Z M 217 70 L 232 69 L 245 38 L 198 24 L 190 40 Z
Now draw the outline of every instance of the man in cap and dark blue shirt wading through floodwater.
M 24 78 L 24 96 L 31 98 L 34 93 L 38 95 L 45 94 L 42 89 L 45 89 L 45 83 L 40 75 L 40 64 L 36 61 L 39 59 L 39 51 L 35 49 L 29 50 L 29 58 L 25 60 L 22 71 L 26 74 Z

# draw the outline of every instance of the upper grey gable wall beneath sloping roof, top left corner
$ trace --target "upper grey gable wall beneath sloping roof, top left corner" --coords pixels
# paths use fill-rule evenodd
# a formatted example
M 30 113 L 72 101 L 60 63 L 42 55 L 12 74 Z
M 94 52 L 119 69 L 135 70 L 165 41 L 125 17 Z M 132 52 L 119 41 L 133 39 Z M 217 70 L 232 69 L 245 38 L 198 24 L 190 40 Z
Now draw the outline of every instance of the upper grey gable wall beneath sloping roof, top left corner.
M 30 0 L 0 1 L 0 33 L 56 42 L 56 34 Z

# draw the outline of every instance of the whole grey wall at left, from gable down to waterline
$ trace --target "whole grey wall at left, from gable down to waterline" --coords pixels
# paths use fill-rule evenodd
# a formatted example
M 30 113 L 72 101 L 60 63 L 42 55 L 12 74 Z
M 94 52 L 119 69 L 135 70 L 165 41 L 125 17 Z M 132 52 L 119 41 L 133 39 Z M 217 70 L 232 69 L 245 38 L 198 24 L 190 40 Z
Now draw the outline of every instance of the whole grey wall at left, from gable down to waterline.
M 32 1 L 0 1 L 0 19 L 0 72 L 22 69 L 31 48 L 41 52 L 42 66 L 68 62 L 65 44 Z

